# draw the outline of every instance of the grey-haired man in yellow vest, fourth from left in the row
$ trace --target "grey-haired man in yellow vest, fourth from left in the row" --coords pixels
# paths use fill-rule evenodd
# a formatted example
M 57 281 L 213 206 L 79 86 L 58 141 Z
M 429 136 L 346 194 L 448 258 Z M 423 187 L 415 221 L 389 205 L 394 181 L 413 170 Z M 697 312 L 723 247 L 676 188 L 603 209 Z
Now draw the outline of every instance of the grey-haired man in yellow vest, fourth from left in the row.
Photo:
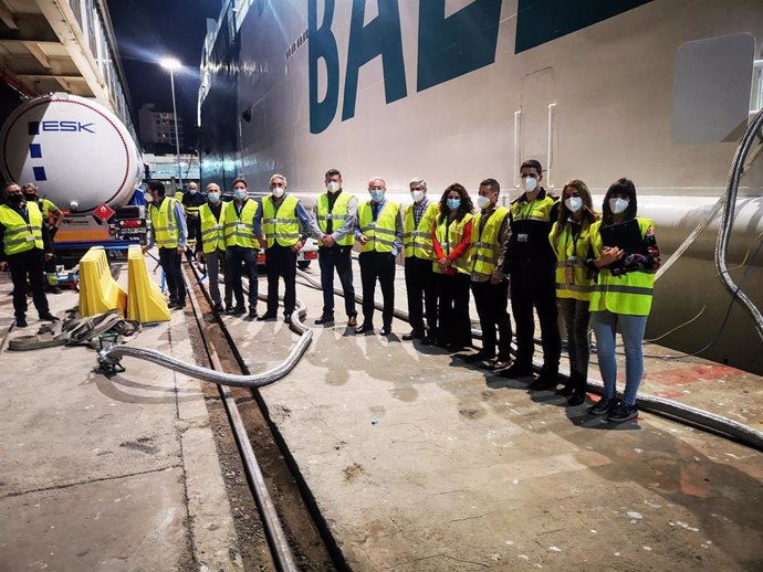
M 259 320 L 274 320 L 279 311 L 279 277 L 283 276 L 283 321 L 289 324 L 296 307 L 296 254 L 310 236 L 310 220 L 300 200 L 286 193 L 286 178 L 270 178 L 270 197 L 262 199 L 258 219 L 268 241 L 268 311 Z

